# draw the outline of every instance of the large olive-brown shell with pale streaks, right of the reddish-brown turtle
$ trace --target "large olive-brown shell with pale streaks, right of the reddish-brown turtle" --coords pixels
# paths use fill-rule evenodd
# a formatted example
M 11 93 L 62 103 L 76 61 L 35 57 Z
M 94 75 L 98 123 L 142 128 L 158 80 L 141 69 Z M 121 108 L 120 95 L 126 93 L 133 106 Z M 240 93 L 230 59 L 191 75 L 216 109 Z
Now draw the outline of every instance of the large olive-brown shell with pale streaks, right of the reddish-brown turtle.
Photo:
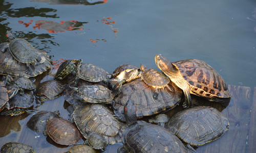
M 121 141 L 118 135 L 121 123 L 113 116 L 113 112 L 100 104 L 87 104 L 78 107 L 73 117 L 84 138 L 92 132 L 103 135 L 107 143 Z

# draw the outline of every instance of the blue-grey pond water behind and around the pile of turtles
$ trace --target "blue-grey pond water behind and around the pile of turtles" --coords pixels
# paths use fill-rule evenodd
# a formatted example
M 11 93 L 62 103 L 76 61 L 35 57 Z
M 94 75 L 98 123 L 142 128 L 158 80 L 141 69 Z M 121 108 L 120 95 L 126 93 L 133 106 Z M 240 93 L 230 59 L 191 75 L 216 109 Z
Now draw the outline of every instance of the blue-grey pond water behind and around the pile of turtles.
M 47 52 L 54 67 L 66 59 L 82 59 L 109 72 L 121 64 L 143 63 L 158 69 L 154 57 L 162 54 L 170 61 L 203 60 L 227 84 L 256 87 L 256 1 L 253 0 L 0 0 L 0 6 L 0 43 L 8 41 L 5 34 L 9 30 Z M 52 77 L 42 81 L 48 79 Z M 54 100 L 35 104 L 38 110 L 51 107 L 50 110 L 60 110 L 61 116 L 68 118 L 63 97 L 56 101 L 53 107 L 50 103 Z M 251 107 L 252 103 L 248 108 Z M 0 116 L 1 131 L 4 127 L 6 130 L 0 135 L 0 147 L 20 140 L 33 144 L 37 152 L 67 151 L 67 146 L 56 145 L 31 132 L 26 127 L 30 117 Z M 12 122 L 8 122 L 10 118 Z M 25 135 L 29 135 L 26 140 Z M 37 143 L 32 143 L 35 140 Z

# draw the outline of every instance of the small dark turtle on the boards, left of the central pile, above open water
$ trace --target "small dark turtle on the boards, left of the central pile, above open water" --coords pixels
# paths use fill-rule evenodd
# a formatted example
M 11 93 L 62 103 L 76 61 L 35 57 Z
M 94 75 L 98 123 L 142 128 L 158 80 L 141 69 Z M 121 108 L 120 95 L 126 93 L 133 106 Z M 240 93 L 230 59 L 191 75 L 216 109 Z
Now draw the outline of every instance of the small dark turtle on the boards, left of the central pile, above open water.
M 57 80 L 45 81 L 36 87 L 36 94 L 39 96 L 40 101 L 55 99 L 63 94 L 63 85 L 62 82 Z

